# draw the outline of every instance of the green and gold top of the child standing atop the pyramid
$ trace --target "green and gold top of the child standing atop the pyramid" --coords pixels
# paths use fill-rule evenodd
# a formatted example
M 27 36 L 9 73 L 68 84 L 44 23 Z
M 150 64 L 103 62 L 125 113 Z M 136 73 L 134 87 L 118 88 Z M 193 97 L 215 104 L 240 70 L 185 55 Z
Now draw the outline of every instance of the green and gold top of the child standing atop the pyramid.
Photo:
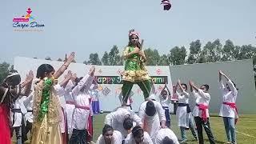
M 130 52 L 134 51 L 135 47 L 126 46 L 123 56 L 127 56 Z M 132 54 L 130 58 L 126 58 L 125 70 L 143 70 L 141 60 L 138 54 Z

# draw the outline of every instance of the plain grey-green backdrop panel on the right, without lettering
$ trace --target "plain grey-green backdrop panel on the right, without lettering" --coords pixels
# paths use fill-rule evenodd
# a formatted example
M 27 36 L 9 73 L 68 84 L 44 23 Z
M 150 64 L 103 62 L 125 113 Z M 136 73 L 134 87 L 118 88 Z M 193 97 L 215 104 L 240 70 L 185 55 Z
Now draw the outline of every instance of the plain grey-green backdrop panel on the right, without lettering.
M 180 78 L 182 82 L 188 83 L 189 79 L 191 79 L 197 86 L 202 84 L 210 86 L 211 113 L 218 113 L 222 103 L 222 96 L 218 89 L 218 70 L 222 70 L 227 74 L 239 89 L 237 98 L 239 113 L 256 114 L 256 109 L 254 108 L 256 91 L 252 60 L 170 66 L 173 82 L 177 82 L 178 78 Z M 193 99 L 190 99 L 190 103 L 194 106 Z

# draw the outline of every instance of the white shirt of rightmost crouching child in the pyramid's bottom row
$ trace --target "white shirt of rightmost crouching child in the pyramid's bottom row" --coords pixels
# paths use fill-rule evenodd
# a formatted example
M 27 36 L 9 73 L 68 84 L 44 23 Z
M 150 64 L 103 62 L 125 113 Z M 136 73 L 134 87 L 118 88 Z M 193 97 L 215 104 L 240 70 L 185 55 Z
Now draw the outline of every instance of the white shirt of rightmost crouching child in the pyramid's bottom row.
M 154 144 L 161 144 L 162 140 L 166 137 L 172 139 L 174 141 L 174 144 L 179 144 L 178 138 L 169 128 L 158 130 L 158 134 L 154 138 Z

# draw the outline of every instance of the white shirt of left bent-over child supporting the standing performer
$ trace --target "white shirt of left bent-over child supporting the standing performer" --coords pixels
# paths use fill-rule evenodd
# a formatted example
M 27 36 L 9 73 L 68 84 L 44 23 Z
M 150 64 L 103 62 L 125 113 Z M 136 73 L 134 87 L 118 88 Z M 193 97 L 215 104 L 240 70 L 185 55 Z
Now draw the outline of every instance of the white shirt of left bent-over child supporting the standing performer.
M 113 127 L 114 130 L 118 130 L 122 134 L 122 139 L 125 139 L 128 132 L 123 128 L 123 122 L 126 115 L 130 115 L 130 118 L 136 122 L 136 125 L 142 125 L 142 119 L 138 117 L 133 111 L 127 110 L 126 107 L 119 107 L 114 112 L 106 115 L 105 124 Z

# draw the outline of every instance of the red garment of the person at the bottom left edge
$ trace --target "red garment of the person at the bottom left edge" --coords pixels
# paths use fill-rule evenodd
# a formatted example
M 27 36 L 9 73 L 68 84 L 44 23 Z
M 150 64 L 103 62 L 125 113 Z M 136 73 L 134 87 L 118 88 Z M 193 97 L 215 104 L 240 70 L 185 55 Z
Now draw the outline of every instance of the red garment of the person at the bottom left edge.
M 5 104 L 0 104 L 0 144 L 11 144 L 9 115 L 9 108 Z

